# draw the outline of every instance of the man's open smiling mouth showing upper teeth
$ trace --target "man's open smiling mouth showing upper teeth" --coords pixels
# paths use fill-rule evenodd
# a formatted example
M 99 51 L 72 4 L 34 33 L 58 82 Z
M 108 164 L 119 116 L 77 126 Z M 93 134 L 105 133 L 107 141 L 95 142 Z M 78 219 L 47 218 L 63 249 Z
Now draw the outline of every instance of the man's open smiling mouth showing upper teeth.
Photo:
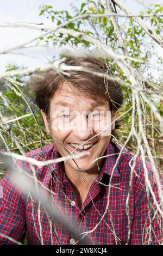
M 83 145 L 68 143 L 68 147 L 71 148 L 71 151 L 74 151 L 73 152 L 74 154 L 77 154 L 84 151 L 91 152 L 95 148 L 96 144 L 97 144 L 97 141 L 89 144 L 83 144 Z

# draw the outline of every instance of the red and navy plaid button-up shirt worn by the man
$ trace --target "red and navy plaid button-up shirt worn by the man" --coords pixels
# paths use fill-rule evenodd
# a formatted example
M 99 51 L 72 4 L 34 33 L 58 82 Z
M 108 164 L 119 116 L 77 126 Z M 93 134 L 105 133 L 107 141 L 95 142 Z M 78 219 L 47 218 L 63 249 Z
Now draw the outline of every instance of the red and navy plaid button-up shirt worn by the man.
M 64 211 L 70 223 L 78 223 L 81 233 L 93 229 L 87 234 L 88 245 L 125 245 L 126 243 L 128 245 L 159 245 L 162 242 L 160 228 L 162 218 L 158 211 L 154 215 L 155 205 L 151 193 L 149 193 L 150 203 L 148 203 L 141 158 L 136 160 L 130 186 L 130 166 L 134 155 L 127 149 L 123 150 L 110 181 L 120 150 L 121 148 L 117 147 L 114 142 L 109 143 L 105 151 L 105 155 L 108 156 L 104 158 L 103 167 L 98 176 L 98 181 L 101 182 L 93 182 L 81 209 L 78 208 L 76 194 L 63 172 L 63 163 L 43 167 L 34 166 L 36 176 L 45 187 L 55 193 L 53 199 L 61 211 Z M 27 156 L 38 161 L 60 157 L 53 144 L 44 147 L 42 151 L 41 149 L 30 151 Z M 32 174 L 29 163 L 21 162 L 23 169 Z M 159 202 L 158 187 L 148 162 L 147 169 L 156 200 Z M 100 222 L 108 203 L 109 184 L 111 185 L 109 209 Z M 9 172 L 5 174 L 0 185 L 0 245 L 15 243 L 1 234 L 22 242 L 26 231 L 29 245 L 71 245 L 75 241 L 75 237 L 72 237 L 70 231 L 61 223 L 53 220 L 55 227 L 52 229 L 51 222 L 43 209 L 38 215 L 38 203 L 14 185 Z M 130 196 L 126 204 L 129 191 Z

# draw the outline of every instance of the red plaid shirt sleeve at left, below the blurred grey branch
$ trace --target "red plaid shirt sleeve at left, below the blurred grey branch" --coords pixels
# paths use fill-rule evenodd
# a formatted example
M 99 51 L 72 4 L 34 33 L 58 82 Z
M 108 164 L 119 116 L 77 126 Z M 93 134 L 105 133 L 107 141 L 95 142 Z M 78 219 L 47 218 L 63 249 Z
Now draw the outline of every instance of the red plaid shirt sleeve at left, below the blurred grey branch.
M 26 236 L 26 211 L 10 172 L 0 181 L 0 191 L 0 245 L 16 245 Z

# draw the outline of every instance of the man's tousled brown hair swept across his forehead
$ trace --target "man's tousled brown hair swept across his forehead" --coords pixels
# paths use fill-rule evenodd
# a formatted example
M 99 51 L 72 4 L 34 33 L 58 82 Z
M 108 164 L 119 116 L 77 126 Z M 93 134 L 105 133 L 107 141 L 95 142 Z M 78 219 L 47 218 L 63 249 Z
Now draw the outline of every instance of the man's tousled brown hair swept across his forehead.
M 100 72 L 112 76 L 111 70 L 102 60 L 92 56 L 86 57 L 68 57 L 65 62 L 68 66 L 82 66 L 90 71 Z M 95 74 L 84 71 L 70 70 L 60 74 L 56 70 L 45 71 L 42 76 L 35 76 L 29 81 L 30 89 L 35 93 L 35 102 L 40 109 L 49 117 L 49 106 L 51 99 L 58 88 L 61 88 L 64 82 L 68 82 L 74 89 L 80 93 L 86 94 L 93 100 L 109 101 L 110 110 L 115 111 L 123 103 L 123 94 L 121 85 L 112 80 L 106 80 Z M 115 129 L 118 129 L 121 121 L 116 120 Z M 117 136 L 115 129 L 112 135 Z M 111 137 L 112 139 L 112 137 Z

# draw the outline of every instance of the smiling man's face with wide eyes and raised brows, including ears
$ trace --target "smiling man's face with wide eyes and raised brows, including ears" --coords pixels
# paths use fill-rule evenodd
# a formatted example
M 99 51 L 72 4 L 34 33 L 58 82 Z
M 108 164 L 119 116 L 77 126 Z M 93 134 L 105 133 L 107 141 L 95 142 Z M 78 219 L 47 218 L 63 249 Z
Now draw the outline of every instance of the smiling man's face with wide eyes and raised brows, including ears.
M 55 92 L 49 110 L 49 122 L 42 112 L 46 131 L 51 133 L 53 144 L 61 156 L 89 152 L 76 159 L 78 166 L 87 173 L 97 169 L 97 161 L 104 155 L 114 129 L 116 112 L 110 112 L 108 101 L 95 101 L 81 94 L 66 83 Z M 113 124 L 111 124 L 113 122 Z M 64 145 L 64 148 L 61 144 Z M 98 161 L 100 167 L 102 160 Z M 77 169 L 73 160 L 67 160 L 66 168 Z

